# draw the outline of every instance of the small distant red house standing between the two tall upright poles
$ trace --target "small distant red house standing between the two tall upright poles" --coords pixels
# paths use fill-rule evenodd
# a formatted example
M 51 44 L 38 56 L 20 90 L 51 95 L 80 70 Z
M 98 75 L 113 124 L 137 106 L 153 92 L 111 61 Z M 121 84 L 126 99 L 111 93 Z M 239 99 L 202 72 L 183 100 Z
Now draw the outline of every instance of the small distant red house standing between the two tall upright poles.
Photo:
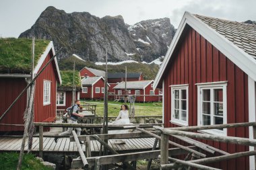
M 109 85 L 108 85 L 109 86 Z M 104 78 L 84 77 L 82 79 L 82 99 L 103 99 L 104 98 Z

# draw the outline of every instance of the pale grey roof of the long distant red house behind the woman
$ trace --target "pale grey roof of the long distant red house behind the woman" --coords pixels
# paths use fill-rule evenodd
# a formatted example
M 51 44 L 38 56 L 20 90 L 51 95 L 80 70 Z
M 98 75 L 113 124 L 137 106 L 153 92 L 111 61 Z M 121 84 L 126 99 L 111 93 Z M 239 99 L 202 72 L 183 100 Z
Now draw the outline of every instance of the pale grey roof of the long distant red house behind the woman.
M 152 82 L 153 80 L 127 81 L 126 89 L 144 89 Z M 118 83 L 115 87 L 113 87 L 113 89 L 125 89 L 125 81 Z

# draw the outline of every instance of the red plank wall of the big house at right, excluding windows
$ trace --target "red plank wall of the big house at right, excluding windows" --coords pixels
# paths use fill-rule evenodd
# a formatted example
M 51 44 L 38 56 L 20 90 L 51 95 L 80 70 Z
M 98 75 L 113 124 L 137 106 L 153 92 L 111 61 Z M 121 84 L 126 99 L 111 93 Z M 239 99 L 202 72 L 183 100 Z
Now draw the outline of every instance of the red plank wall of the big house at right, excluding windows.
M 195 83 L 228 81 L 227 122 L 249 121 L 248 76 L 231 62 L 210 42 L 189 28 L 179 49 L 172 56 L 169 70 L 164 75 L 164 126 L 170 124 L 171 93 L 170 85 L 189 84 L 189 126 L 197 126 L 197 86 Z M 228 129 L 228 136 L 249 138 L 248 128 Z M 179 141 L 179 140 L 175 140 Z M 228 153 L 249 151 L 247 146 L 201 140 Z M 233 159 L 215 163 L 220 169 L 249 169 L 249 158 Z

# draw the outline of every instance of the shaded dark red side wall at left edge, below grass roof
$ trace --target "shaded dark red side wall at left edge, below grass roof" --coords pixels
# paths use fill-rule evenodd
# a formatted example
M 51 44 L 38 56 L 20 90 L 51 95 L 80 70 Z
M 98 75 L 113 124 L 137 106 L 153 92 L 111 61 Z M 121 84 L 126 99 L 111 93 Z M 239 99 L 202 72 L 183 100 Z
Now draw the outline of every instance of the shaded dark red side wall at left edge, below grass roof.
M 0 79 L 0 116 L 9 108 L 11 103 L 25 89 L 27 83 L 24 78 L 1 78 Z M 1 124 L 24 124 L 23 115 L 26 109 L 27 93 L 15 103 L 13 108 L 5 115 Z M 19 126 L 0 126 L 0 131 L 22 131 Z

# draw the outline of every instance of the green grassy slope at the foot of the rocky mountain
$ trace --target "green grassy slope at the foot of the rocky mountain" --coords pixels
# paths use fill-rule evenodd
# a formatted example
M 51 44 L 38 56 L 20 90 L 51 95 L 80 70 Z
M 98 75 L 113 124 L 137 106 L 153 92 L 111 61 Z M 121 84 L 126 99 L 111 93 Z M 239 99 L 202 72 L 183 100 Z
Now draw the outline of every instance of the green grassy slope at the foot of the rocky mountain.
M 83 61 L 71 56 L 59 61 L 59 68 L 61 70 L 72 70 L 73 62 L 75 61 L 75 70 L 80 71 L 84 67 L 90 67 L 92 69 L 98 69 L 105 71 L 105 65 L 95 65 L 90 61 Z M 122 65 L 108 65 L 108 73 L 125 73 L 125 66 L 127 67 L 128 73 L 141 72 L 143 73 L 144 79 L 155 79 L 158 73 L 159 66 L 155 64 L 142 64 L 139 63 L 124 63 Z

